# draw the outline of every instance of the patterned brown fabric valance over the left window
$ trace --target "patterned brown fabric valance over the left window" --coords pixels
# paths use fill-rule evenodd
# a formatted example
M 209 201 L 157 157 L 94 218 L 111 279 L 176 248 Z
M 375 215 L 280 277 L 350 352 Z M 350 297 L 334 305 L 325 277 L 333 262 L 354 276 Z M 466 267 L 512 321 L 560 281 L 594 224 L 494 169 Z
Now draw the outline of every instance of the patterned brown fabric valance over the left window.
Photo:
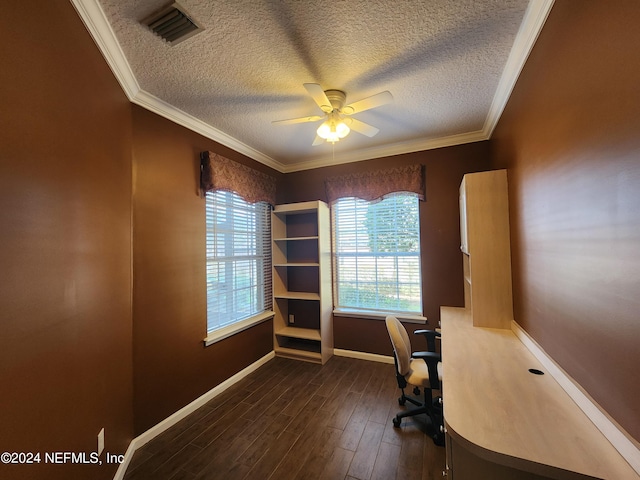
M 275 178 L 213 152 L 200 154 L 200 187 L 204 192 L 234 192 L 249 203 L 276 204 Z

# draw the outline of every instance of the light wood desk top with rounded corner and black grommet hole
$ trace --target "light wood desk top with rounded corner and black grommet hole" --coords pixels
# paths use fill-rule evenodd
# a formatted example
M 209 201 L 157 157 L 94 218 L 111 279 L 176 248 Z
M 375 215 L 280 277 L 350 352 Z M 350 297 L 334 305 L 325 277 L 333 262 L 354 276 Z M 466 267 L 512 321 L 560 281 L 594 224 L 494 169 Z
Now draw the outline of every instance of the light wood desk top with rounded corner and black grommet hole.
M 441 318 L 444 416 L 458 443 L 551 478 L 640 478 L 511 330 L 474 327 L 462 308 Z

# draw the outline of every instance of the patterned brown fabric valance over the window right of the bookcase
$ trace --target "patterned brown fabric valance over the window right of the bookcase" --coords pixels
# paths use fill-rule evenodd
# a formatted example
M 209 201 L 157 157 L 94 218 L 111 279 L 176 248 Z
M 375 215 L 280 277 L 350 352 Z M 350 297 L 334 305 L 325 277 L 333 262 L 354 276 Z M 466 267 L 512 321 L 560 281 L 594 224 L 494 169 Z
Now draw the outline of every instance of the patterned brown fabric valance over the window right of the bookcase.
M 325 180 L 327 199 L 330 203 L 344 197 L 371 201 L 389 193 L 412 192 L 424 200 L 423 170 L 418 164 L 329 177 Z

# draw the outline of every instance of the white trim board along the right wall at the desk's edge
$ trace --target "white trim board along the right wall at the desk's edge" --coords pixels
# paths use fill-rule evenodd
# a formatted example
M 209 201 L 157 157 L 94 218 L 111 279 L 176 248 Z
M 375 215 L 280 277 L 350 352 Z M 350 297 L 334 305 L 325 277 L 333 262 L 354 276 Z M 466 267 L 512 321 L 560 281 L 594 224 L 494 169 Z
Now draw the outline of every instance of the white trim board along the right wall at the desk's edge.
M 629 438 L 622 428 L 611 419 L 580 385 L 565 372 L 538 343 L 515 321 L 511 330 L 525 347 L 544 365 L 576 405 L 589 417 L 600 432 L 618 450 L 620 455 L 640 475 L 640 448 Z

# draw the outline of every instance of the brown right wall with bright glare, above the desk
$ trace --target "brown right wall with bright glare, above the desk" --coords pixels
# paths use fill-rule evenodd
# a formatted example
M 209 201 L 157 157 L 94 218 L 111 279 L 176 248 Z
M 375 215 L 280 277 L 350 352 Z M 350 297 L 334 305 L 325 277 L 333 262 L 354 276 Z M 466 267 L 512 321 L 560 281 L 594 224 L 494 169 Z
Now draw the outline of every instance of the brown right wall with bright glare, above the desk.
M 640 440 L 640 3 L 557 0 L 492 139 L 516 320 Z

